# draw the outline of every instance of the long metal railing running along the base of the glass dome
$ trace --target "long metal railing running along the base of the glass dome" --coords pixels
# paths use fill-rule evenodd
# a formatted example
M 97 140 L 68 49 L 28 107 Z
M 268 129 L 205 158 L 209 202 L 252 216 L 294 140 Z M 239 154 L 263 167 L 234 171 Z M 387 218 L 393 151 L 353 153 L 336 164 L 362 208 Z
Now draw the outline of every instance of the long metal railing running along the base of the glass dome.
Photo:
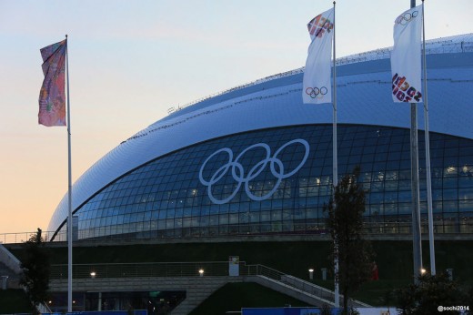
M 422 233 L 428 233 L 428 221 L 421 222 Z M 379 221 L 365 222 L 366 235 L 409 235 L 411 223 L 409 221 Z M 434 233 L 470 235 L 473 234 L 473 219 L 461 218 L 459 220 L 435 220 Z M 221 238 L 221 237 L 257 237 L 257 236 L 312 236 L 324 237 L 329 234 L 323 223 L 297 222 L 262 222 L 222 226 L 190 227 L 178 229 L 154 229 L 103 227 L 96 229 L 83 229 L 77 233 L 77 239 L 82 240 L 134 240 L 134 239 L 182 239 L 182 238 Z M 35 232 L 4 233 L 0 234 L 0 243 L 18 244 L 30 239 Z M 64 230 L 56 235 L 52 231 L 42 233 L 45 241 L 65 241 L 67 235 Z M 54 239 L 53 239 L 54 237 Z

